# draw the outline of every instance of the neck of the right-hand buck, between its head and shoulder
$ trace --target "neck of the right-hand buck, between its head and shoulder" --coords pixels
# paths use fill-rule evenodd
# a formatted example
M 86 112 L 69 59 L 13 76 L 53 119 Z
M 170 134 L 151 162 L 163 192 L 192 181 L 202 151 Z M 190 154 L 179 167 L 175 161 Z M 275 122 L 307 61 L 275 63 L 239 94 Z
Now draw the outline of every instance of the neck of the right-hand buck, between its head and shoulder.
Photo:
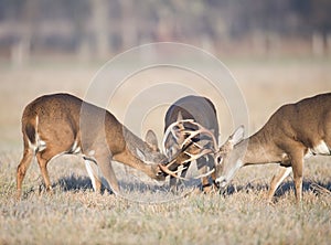
M 244 139 L 238 145 L 238 148 L 244 152 L 242 157 L 244 166 L 279 162 L 281 160 L 277 147 L 263 130 Z

